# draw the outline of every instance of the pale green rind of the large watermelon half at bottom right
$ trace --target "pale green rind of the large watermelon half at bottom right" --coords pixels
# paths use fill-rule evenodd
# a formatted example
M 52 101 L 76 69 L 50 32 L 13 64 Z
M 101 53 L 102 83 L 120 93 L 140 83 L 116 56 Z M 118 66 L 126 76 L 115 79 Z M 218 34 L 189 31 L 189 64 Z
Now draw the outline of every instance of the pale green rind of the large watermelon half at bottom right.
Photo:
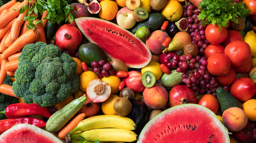
M 173 107 L 171 107 L 169 109 L 166 109 L 166 110 L 160 112 L 155 117 L 153 117 L 151 120 L 149 120 L 147 122 L 147 124 L 144 126 L 144 128 L 142 129 L 141 133 L 139 134 L 139 138 L 137 140 L 137 143 L 141 143 L 143 140 L 147 140 L 144 137 L 144 135 L 145 135 L 145 133 L 150 132 L 149 129 L 150 129 L 151 124 L 155 123 L 157 120 L 162 120 L 164 118 L 165 114 L 170 114 L 171 112 L 177 111 L 178 109 L 182 109 L 182 108 L 186 108 L 186 107 L 192 107 L 192 106 L 204 109 L 205 110 L 205 114 L 208 113 L 208 116 L 212 117 L 212 120 L 214 120 L 213 122 L 216 123 L 215 127 L 219 128 L 220 131 L 223 131 L 225 133 L 224 136 L 226 136 L 225 137 L 226 138 L 226 142 L 224 142 L 224 143 L 229 143 L 230 142 L 227 129 L 225 128 L 225 126 L 223 125 L 221 120 L 216 116 L 216 114 L 214 114 L 210 109 L 208 109 L 208 108 L 206 108 L 206 107 L 204 107 L 202 105 L 193 104 L 193 103 L 186 103 L 186 104 L 180 104 L 180 105 L 173 106 Z M 191 117 L 191 118 L 193 118 L 193 117 Z M 198 118 L 198 117 L 195 117 L 195 118 Z M 171 138 L 170 138 L 170 140 L 171 140 Z

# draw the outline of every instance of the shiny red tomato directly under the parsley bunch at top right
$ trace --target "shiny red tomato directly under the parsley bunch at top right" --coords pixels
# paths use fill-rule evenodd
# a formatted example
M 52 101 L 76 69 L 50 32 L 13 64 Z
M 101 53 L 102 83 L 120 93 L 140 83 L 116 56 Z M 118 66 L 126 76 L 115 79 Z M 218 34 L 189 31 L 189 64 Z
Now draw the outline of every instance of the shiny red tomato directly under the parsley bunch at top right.
M 205 28 L 205 38 L 209 43 L 219 44 L 226 39 L 227 29 L 222 27 L 221 30 L 218 31 L 219 28 L 220 27 L 218 26 L 218 24 L 214 24 L 214 25 L 209 24 Z

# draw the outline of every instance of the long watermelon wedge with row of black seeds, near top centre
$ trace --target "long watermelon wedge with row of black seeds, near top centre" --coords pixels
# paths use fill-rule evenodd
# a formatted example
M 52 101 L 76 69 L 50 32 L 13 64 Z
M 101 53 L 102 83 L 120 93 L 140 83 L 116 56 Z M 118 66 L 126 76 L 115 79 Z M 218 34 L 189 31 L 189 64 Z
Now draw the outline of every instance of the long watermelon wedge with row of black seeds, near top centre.
M 119 25 L 93 17 L 80 17 L 75 23 L 110 59 L 120 59 L 130 68 L 142 68 L 150 62 L 152 55 L 146 44 Z

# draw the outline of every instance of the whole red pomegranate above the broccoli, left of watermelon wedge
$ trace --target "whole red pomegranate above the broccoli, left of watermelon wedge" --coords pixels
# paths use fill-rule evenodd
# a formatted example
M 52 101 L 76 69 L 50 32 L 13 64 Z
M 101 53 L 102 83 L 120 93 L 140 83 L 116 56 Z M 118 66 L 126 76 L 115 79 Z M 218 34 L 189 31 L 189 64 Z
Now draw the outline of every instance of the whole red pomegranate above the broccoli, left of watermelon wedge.
M 64 24 L 55 34 L 56 45 L 63 51 L 72 52 L 79 48 L 82 42 L 82 33 L 72 24 Z

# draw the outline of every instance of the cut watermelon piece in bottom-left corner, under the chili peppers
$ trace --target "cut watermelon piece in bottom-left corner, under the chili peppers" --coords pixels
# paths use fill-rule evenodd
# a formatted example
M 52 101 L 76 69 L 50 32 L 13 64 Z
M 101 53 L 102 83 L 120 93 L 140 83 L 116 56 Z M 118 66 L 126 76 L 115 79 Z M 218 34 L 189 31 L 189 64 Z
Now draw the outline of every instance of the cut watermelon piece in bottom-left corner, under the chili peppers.
M 31 124 L 16 124 L 0 135 L 1 143 L 62 143 L 51 133 Z

